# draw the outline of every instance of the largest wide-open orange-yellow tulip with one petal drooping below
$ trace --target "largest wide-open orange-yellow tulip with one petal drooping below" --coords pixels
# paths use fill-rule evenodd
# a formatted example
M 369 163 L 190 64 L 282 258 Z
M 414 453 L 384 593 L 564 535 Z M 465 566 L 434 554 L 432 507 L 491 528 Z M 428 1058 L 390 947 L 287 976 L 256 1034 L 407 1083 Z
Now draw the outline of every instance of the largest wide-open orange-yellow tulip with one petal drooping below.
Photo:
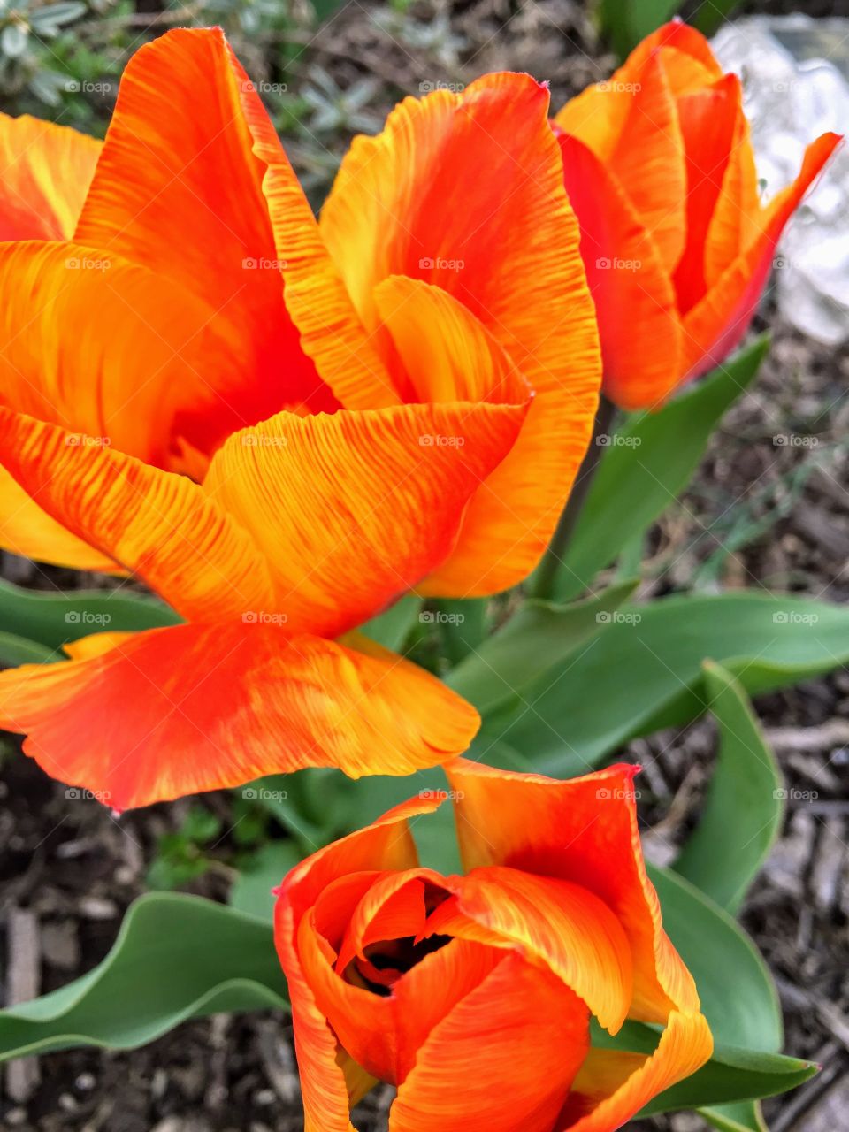
M 117 808 L 463 751 L 468 704 L 336 638 L 515 584 L 568 495 L 601 368 L 547 92 L 408 100 L 320 228 L 220 32 L 143 48 L 102 148 L 0 142 L 0 544 L 187 621 L 0 675 L 0 726 Z

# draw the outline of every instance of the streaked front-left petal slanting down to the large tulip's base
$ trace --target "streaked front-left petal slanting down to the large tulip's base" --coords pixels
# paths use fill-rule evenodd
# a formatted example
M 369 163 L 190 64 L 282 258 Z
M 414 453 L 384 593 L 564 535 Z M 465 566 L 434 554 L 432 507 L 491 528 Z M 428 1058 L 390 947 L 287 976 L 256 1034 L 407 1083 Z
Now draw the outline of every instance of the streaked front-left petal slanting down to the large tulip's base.
M 268 609 L 267 564 L 250 535 L 197 483 L 101 437 L 0 408 L 0 461 L 50 517 L 185 617 L 214 620 Z

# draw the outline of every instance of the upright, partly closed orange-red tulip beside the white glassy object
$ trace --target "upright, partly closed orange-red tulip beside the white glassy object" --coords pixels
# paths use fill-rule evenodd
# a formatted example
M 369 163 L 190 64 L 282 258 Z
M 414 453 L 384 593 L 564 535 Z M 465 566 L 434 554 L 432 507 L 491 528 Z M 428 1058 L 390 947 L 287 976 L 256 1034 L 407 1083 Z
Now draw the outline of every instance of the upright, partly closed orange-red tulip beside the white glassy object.
M 740 342 L 778 239 L 840 138 L 817 138 L 796 181 L 762 204 L 739 79 L 679 22 L 555 123 L 604 393 L 623 409 L 657 409 Z

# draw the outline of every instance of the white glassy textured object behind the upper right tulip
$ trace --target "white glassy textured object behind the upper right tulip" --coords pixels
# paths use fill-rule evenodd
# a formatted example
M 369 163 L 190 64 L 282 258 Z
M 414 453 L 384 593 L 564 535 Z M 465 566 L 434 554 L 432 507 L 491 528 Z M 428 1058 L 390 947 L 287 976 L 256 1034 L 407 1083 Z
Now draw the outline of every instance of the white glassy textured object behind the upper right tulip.
M 726 24 L 713 49 L 743 80 L 769 198 L 794 180 L 809 142 L 849 129 L 849 19 L 755 16 Z M 775 266 L 782 316 L 826 345 L 849 340 L 849 144 L 788 224 Z

